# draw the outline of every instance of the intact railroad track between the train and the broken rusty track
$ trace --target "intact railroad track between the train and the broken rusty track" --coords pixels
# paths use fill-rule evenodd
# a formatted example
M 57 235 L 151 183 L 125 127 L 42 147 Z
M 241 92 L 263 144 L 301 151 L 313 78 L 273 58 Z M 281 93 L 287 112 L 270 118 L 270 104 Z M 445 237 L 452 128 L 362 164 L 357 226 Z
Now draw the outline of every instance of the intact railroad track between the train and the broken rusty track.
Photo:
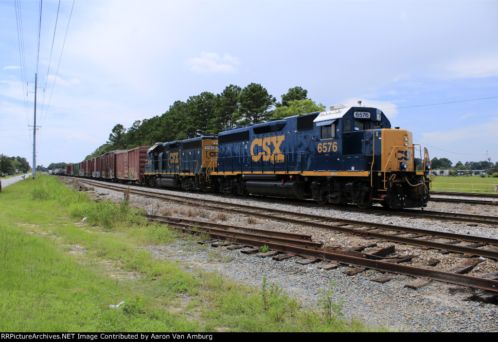
M 438 249 L 443 252 L 456 252 L 498 259 L 498 239 L 494 238 L 396 226 L 392 224 L 379 224 L 359 220 L 329 218 L 305 213 L 267 209 L 264 207 L 226 203 L 219 200 L 195 200 L 188 196 L 158 194 L 150 190 L 131 189 L 127 186 L 102 184 L 86 179 L 82 181 L 113 190 L 124 191 L 129 189 L 130 194 L 146 196 L 162 201 L 171 201 L 184 205 L 203 207 L 210 210 L 223 210 L 266 220 L 331 230 L 339 233 L 348 233 L 363 238 L 377 238 L 384 241 L 402 243 L 422 248 Z

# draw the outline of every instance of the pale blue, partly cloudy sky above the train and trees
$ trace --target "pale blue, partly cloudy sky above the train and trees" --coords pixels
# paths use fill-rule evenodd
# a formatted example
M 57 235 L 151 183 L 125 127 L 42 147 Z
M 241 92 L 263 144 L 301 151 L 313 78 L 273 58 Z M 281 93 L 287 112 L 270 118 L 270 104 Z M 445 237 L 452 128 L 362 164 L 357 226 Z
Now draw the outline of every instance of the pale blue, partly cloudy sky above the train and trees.
M 59 2 L 42 2 L 38 165 L 79 162 L 117 123 L 251 82 L 277 100 L 300 86 L 327 107 L 385 109 L 431 157 L 498 161 L 498 1 L 76 1 L 64 43 L 72 5 L 54 38 Z M 0 1 L 0 153 L 31 161 L 21 72 L 33 91 L 39 1 L 20 9 L 22 68 L 15 2 Z

